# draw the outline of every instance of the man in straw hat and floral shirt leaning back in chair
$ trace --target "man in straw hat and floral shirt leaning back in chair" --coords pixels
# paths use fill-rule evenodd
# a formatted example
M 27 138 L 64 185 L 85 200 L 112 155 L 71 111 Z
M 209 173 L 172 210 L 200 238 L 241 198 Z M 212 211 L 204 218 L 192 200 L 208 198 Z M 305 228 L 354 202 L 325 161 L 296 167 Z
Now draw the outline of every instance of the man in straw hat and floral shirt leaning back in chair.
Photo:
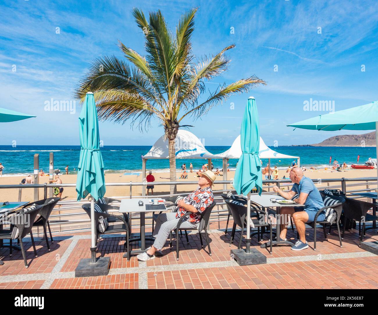
M 155 237 L 155 242 L 147 251 L 136 256 L 141 261 L 147 261 L 155 258 L 155 254 L 161 256 L 161 248 L 167 241 L 169 233 L 177 227 L 180 217 L 191 213 L 181 223 L 181 228 L 196 228 L 200 223 L 201 213 L 213 203 L 214 196 L 211 190 L 215 180 L 215 175 L 212 171 L 206 171 L 198 178 L 198 188 L 188 196 L 176 200 L 178 210 L 177 212 L 161 213 L 156 219 L 156 226 L 153 230 L 152 236 Z

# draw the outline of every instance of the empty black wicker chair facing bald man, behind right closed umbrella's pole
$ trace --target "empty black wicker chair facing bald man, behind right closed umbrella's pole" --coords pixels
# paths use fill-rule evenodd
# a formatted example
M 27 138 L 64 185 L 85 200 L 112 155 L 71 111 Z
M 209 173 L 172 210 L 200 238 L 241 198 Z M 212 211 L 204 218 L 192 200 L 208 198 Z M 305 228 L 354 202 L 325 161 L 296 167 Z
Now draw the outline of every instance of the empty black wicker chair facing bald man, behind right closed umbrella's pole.
M 240 240 L 238 249 L 240 249 L 242 245 L 242 235 L 244 232 L 244 227 L 246 226 L 246 215 L 247 215 L 247 207 L 245 205 L 240 205 L 237 203 L 233 203 L 231 200 L 225 200 L 226 204 L 229 206 L 229 209 L 231 210 L 232 218 L 234 219 L 234 225 L 238 225 L 241 230 Z M 269 233 L 270 233 L 270 253 L 272 253 L 272 242 L 273 242 L 273 233 L 272 233 L 272 222 L 268 215 L 268 211 L 259 211 L 257 208 L 255 208 L 254 205 L 251 204 L 251 214 L 254 213 L 256 216 L 251 217 L 251 220 L 255 227 L 269 227 Z M 251 227 L 246 227 L 251 228 Z M 235 231 L 233 230 L 233 234 L 231 235 L 230 240 L 230 246 L 232 244 L 232 241 L 234 240 L 234 234 Z M 259 238 L 259 234 L 257 234 L 257 238 Z

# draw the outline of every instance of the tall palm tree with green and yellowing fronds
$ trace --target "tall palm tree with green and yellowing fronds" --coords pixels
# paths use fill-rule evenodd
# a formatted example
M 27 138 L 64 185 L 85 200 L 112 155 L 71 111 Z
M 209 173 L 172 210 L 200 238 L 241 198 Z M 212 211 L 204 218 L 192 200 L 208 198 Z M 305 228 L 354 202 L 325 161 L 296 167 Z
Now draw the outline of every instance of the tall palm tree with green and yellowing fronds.
M 152 117 L 160 119 L 169 144 L 171 181 L 176 180 L 175 138 L 178 129 L 183 127 L 181 121 L 186 116 L 197 119 L 232 94 L 248 92 L 258 84 L 265 84 L 251 76 L 220 85 L 199 101 L 206 92 L 204 81 L 227 69 L 230 59 L 224 53 L 235 45 L 195 63 L 191 36 L 196 11 L 197 8 L 193 8 L 181 16 L 174 36 L 160 10 L 150 12 L 147 22 L 143 11 L 133 9 L 133 17 L 146 40 L 146 55 L 119 42 L 118 46 L 131 66 L 115 56 L 98 57 L 75 91 L 75 97 L 81 101 L 87 92 L 95 92 L 99 119 L 122 124 L 130 119 L 131 126 L 138 121 L 140 129 L 147 129 Z M 175 187 L 171 185 L 171 193 L 175 193 Z

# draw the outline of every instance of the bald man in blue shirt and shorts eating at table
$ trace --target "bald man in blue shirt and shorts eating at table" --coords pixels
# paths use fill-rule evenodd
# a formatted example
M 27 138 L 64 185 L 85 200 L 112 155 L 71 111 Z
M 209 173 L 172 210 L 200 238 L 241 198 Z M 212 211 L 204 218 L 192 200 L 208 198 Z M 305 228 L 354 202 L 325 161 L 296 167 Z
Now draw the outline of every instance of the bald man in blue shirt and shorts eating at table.
M 298 198 L 294 199 L 296 203 L 300 205 L 305 205 L 303 207 L 282 207 L 281 214 L 287 214 L 291 216 L 294 220 L 295 227 L 299 234 L 299 239 L 295 243 L 292 250 L 302 250 L 308 248 L 308 244 L 306 242 L 306 228 L 305 223 L 314 222 L 315 214 L 319 211 L 319 209 L 324 207 L 324 203 L 322 200 L 322 196 L 318 188 L 315 187 L 313 181 L 303 175 L 303 171 L 300 168 L 293 168 L 290 171 L 290 180 L 293 182 L 293 188 L 289 192 L 283 192 L 277 186 L 273 187 L 274 192 L 278 192 L 278 194 L 290 200 L 296 194 L 298 194 Z M 317 221 L 324 221 L 325 220 L 325 211 L 319 214 Z M 284 220 L 284 222 L 288 222 Z M 286 231 L 287 225 L 281 224 L 281 234 L 280 238 L 286 238 Z

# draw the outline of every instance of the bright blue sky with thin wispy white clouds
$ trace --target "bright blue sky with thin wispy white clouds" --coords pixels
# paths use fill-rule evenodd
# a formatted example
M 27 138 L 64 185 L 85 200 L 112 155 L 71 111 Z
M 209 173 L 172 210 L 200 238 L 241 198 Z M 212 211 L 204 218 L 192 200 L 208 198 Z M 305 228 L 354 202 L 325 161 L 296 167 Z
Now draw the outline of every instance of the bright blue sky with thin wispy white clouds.
M 81 108 L 75 114 L 51 112 L 45 102 L 73 100 L 73 89 L 94 58 L 122 58 L 118 40 L 144 54 L 143 34 L 131 16 L 135 6 L 145 14 L 161 9 L 172 29 L 184 11 L 198 6 L 192 36 L 197 56 L 236 44 L 228 53 L 228 71 L 206 84 L 210 90 L 253 74 L 267 82 L 232 96 L 202 120 L 184 122 L 195 126 L 191 132 L 205 145 L 232 144 L 250 95 L 267 145 L 318 143 L 351 133 L 286 127 L 326 113 L 305 111 L 305 101 L 334 101 L 335 110 L 342 110 L 378 99 L 376 1 L 2 1 L 0 107 L 37 118 L 1 124 L 0 144 L 79 144 Z M 163 128 L 157 120 L 143 133 L 128 123 L 102 122 L 100 134 L 104 145 L 152 145 Z

